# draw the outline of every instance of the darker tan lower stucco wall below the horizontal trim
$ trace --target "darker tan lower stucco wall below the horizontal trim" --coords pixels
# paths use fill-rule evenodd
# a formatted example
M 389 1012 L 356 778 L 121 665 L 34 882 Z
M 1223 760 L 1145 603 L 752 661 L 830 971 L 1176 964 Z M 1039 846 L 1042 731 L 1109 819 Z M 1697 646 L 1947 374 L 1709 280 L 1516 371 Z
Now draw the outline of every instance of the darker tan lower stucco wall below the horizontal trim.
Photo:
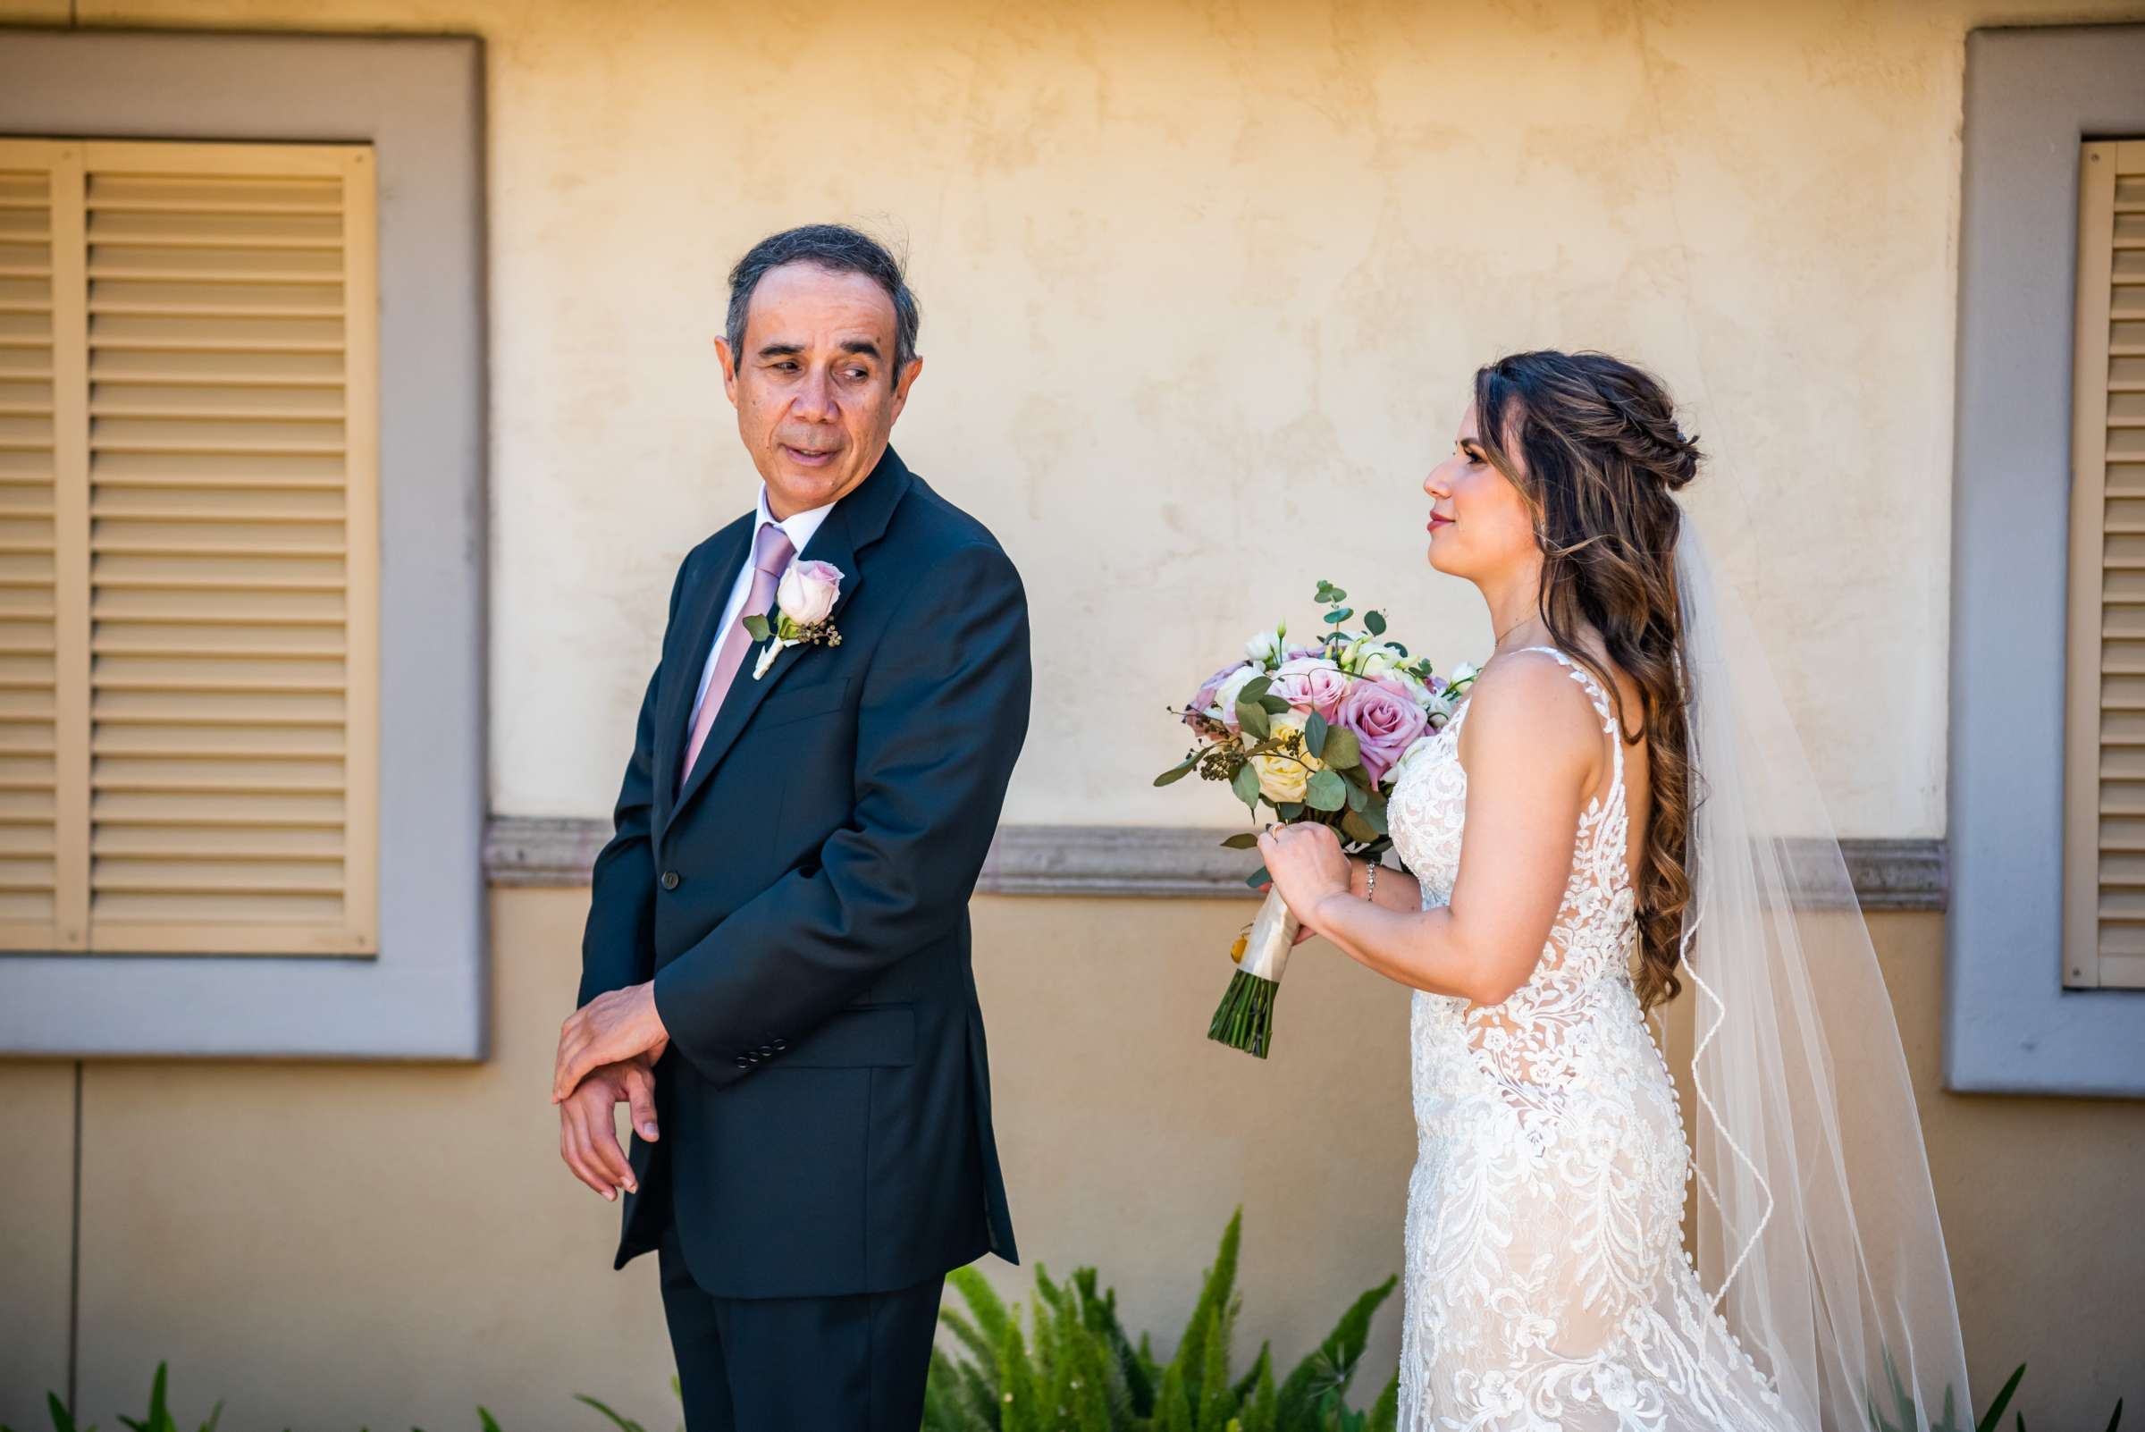
M 1272 1061 L 1208 1044 L 1216 948 L 1248 909 L 985 898 L 976 973 L 1025 1256 L 1098 1265 L 1173 1346 L 1242 1200 L 1242 1344 L 1300 1355 L 1401 1265 L 1407 995 L 1311 945 Z M 232 1428 L 465 1428 L 476 1402 L 508 1432 L 594 1426 L 573 1391 L 676 1426 L 652 1263 L 609 1271 L 616 1213 L 558 1162 L 545 1102 L 583 911 L 577 890 L 493 894 L 498 1053 L 478 1068 L 90 1065 L 82 1411 L 139 1415 L 167 1357 L 180 1411 L 225 1396 Z M 2104 1426 L 2145 1396 L 2145 1102 L 1941 1093 L 1941 920 L 1875 928 L 1978 1396 L 2023 1359 L 2029 1423 Z M 41 1389 L 64 1378 L 71 1100 L 69 1070 L 0 1063 L 0 1421 L 17 1428 L 43 1426 Z M 1388 1310 L 1366 1381 L 1396 1342 Z

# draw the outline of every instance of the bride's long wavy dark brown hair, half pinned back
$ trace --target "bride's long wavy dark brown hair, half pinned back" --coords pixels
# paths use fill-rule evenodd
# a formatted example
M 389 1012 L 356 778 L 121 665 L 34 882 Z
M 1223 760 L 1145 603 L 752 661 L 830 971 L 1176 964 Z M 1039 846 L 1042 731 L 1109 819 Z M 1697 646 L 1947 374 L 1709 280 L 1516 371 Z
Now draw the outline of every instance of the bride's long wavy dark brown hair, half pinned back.
M 1484 454 L 1534 508 L 1542 622 L 1600 677 L 1626 746 L 1647 742 L 1637 988 L 1639 1003 L 1654 1008 L 1682 990 L 1675 967 L 1690 905 L 1690 712 L 1675 585 L 1682 508 L 1669 493 L 1697 476 L 1703 452 L 1677 427 L 1660 379 L 1609 354 L 1512 354 L 1476 371 L 1474 399 Z M 1637 733 L 1624 688 L 1581 645 L 1583 626 L 1600 632 L 1609 658 L 1639 684 Z

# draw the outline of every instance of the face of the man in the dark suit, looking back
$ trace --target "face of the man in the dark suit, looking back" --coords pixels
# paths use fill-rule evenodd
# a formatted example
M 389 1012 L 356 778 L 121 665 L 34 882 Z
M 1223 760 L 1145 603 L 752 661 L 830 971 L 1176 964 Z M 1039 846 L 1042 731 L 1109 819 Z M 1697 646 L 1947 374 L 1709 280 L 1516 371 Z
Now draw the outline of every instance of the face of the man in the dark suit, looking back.
M 744 313 L 744 352 L 723 356 L 738 437 L 789 517 L 871 476 L 922 358 L 894 373 L 894 300 L 867 274 L 817 264 L 770 268 Z

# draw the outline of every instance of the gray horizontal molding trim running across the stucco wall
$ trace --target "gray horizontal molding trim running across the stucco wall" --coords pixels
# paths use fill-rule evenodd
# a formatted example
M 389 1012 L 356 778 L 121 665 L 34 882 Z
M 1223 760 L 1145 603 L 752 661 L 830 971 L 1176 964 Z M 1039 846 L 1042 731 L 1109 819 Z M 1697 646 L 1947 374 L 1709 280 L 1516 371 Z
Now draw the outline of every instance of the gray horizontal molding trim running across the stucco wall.
M 980 894 L 1248 896 L 1246 851 L 1227 830 L 1197 825 L 1002 825 L 976 881 Z M 502 815 L 485 834 L 493 885 L 586 885 L 609 821 Z M 1862 909 L 1941 911 L 1943 840 L 1843 840 Z

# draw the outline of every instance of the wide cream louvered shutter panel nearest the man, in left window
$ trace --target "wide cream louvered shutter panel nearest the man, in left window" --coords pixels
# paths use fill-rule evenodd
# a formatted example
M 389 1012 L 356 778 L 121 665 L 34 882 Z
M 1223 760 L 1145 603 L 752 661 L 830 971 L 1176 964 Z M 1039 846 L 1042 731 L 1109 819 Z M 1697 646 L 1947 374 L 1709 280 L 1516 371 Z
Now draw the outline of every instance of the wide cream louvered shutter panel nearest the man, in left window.
M 84 150 L 90 948 L 371 954 L 371 152 Z

